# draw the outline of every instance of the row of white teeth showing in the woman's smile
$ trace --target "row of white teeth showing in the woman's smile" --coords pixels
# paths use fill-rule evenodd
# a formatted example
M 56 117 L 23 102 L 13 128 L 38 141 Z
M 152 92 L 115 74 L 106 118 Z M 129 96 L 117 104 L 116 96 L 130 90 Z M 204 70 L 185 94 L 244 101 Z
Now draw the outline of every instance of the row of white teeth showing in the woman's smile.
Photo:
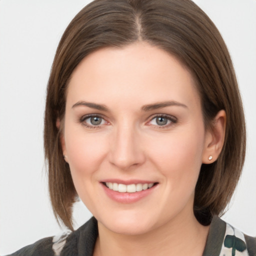
M 141 190 L 146 190 L 148 188 L 151 188 L 154 183 L 137 183 L 137 184 L 118 184 L 118 183 L 112 183 L 112 182 L 106 182 L 106 186 L 114 191 L 118 192 L 128 192 L 128 193 L 134 193 L 139 192 Z

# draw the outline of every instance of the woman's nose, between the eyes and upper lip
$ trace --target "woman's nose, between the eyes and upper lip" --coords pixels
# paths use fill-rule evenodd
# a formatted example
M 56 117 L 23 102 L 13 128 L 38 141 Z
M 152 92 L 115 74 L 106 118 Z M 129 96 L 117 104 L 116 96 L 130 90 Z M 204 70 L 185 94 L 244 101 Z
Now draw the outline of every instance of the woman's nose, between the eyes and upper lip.
M 113 131 L 110 141 L 109 162 L 127 170 L 145 161 L 139 132 L 132 125 L 121 125 Z

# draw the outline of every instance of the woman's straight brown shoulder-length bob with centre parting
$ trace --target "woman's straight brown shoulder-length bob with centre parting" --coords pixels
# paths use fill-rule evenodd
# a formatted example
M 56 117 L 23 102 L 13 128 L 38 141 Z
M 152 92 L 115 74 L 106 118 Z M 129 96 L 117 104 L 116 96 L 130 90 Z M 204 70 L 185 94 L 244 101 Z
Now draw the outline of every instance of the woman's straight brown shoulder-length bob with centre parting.
M 201 100 L 206 129 L 221 109 L 225 140 L 216 161 L 202 164 L 194 214 L 207 225 L 221 215 L 239 179 L 245 156 L 245 122 L 233 65 L 209 17 L 191 0 L 94 0 L 67 26 L 56 50 L 46 95 L 44 152 L 54 215 L 70 229 L 77 193 L 60 144 L 68 81 L 88 54 L 102 47 L 146 41 L 174 55 L 190 70 Z M 60 128 L 56 120 L 60 120 Z

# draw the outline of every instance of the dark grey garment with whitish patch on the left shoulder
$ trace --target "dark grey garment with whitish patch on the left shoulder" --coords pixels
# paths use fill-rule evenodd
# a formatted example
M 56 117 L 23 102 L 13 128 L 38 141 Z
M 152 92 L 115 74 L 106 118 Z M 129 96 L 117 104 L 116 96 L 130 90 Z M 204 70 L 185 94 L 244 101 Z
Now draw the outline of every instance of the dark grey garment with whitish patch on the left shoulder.
M 76 256 L 78 251 L 92 255 L 96 238 L 97 221 L 92 217 L 73 232 L 65 230 L 59 235 L 40 239 L 7 256 Z

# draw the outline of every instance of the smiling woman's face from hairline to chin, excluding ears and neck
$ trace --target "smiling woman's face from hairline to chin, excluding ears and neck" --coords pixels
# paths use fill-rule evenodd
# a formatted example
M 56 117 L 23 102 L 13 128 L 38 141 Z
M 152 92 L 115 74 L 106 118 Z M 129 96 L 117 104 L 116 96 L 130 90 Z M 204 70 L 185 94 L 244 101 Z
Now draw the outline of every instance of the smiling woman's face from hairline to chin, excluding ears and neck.
M 63 154 L 79 197 L 111 231 L 192 216 L 208 137 L 192 76 L 162 49 L 103 48 L 71 75 Z

